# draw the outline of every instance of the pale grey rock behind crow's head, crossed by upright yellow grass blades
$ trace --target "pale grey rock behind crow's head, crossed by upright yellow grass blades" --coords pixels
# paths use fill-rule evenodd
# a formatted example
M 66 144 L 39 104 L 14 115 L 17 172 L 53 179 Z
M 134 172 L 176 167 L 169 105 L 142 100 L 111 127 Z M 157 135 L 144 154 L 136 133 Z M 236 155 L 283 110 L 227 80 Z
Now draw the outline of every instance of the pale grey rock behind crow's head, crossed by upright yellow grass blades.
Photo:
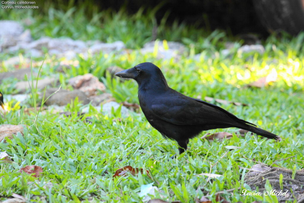
M 158 45 L 156 44 L 158 43 Z M 184 54 L 186 51 L 185 45 L 179 43 L 179 42 L 167 42 L 168 49 L 164 47 L 163 41 L 151 41 L 148 42 L 143 46 L 143 48 L 140 50 L 141 53 L 153 53 L 154 47 L 158 46 L 157 51 L 157 58 L 163 58 L 163 59 L 171 59 L 171 58 L 179 58 L 180 55 Z

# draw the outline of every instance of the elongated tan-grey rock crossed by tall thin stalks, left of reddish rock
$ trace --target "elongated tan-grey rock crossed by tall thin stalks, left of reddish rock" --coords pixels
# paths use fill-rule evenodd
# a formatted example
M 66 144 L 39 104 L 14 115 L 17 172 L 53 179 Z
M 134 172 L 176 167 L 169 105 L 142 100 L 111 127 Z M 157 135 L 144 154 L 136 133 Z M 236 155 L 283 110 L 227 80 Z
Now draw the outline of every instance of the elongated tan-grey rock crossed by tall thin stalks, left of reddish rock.
M 37 89 L 43 89 L 46 86 L 53 86 L 54 84 L 57 84 L 57 82 L 58 82 L 58 79 L 55 79 L 55 78 L 40 79 L 40 80 L 38 80 L 38 83 L 37 83 Z M 34 81 L 34 88 L 35 87 L 36 87 L 36 80 Z M 28 81 L 17 82 L 16 89 L 18 89 L 19 93 L 26 92 L 26 90 L 29 89 L 29 82 Z

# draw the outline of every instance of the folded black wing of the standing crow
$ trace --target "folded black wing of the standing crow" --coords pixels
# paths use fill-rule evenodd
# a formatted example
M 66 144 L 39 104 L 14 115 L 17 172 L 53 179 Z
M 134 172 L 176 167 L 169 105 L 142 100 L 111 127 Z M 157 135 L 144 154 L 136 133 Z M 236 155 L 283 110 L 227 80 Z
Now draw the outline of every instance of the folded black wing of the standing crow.
M 176 125 L 251 124 L 219 106 L 178 92 L 154 100 L 151 110 L 154 116 Z

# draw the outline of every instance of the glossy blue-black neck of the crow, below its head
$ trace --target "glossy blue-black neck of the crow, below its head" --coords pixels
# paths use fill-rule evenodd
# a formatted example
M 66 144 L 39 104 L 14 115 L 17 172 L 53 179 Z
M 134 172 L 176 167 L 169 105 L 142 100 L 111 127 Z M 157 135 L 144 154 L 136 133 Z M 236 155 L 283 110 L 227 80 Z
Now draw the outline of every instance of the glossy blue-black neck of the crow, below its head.
M 164 77 L 149 78 L 145 81 L 137 81 L 138 93 L 140 92 L 164 92 L 169 89 L 167 81 Z

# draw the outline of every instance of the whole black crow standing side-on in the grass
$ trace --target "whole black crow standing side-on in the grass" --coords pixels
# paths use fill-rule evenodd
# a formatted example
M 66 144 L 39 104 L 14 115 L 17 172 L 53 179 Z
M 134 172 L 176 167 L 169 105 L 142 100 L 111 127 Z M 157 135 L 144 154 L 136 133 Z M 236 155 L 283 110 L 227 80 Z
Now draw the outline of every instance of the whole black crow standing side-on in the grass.
M 180 154 L 187 149 L 190 138 L 216 128 L 236 127 L 266 138 L 280 139 L 221 107 L 171 89 L 161 70 L 152 63 L 141 63 L 115 75 L 136 80 L 143 114 L 161 135 L 177 141 Z

